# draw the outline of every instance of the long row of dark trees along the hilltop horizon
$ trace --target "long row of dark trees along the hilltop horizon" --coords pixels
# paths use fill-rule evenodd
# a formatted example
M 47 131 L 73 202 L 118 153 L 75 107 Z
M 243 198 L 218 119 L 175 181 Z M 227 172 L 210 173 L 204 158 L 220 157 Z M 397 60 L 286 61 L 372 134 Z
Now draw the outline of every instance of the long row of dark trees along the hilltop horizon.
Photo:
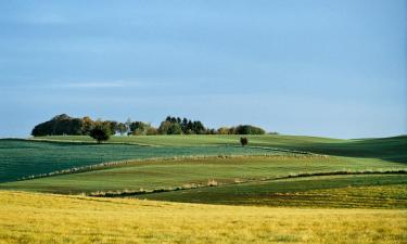
M 251 125 L 239 125 L 236 127 L 220 127 L 211 129 L 200 120 L 167 116 L 155 128 L 149 123 L 115 120 L 92 120 L 89 116 L 73 118 L 66 114 L 54 116 L 48 121 L 34 127 L 34 137 L 43 136 L 92 136 L 91 133 L 103 130 L 107 134 L 127 136 L 154 136 L 154 134 L 264 134 L 266 131 Z M 99 131 L 100 132 L 100 131 Z

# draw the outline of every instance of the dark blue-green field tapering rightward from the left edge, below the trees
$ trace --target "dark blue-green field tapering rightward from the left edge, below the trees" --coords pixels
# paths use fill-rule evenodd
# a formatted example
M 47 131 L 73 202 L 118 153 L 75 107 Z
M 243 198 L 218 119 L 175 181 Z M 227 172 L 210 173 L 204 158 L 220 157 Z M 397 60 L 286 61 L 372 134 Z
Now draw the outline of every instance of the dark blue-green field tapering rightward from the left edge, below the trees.
M 0 140 L 0 182 L 104 162 L 191 155 L 284 154 L 238 146 L 138 146 Z

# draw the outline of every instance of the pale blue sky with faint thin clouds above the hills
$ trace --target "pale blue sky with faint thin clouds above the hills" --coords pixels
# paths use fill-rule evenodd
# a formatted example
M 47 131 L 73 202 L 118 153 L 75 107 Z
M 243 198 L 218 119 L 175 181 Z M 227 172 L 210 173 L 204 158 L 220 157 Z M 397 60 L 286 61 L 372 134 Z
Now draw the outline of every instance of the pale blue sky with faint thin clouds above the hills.
M 58 114 L 407 133 L 407 1 L 0 1 L 0 137 Z

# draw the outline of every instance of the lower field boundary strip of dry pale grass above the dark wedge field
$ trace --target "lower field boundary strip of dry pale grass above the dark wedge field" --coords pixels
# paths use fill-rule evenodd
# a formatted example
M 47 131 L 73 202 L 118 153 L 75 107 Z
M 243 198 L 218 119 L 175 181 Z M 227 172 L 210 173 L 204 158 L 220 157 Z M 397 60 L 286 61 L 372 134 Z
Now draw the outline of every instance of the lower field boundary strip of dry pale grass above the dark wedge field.
M 326 172 L 300 172 L 300 174 L 290 174 L 283 177 L 265 177 L 260 179 L 239 179 L 239 181 L 230 182 L 230 183 L 218 183 L 215 180 L 208 180 L 205 183 L 189 183 L 181 187 L 174 187 L 174 188 L 161 188 L 161 189 L 153 189 L 153 190 L 124 190 L 124 191 L 97 191 L 91 192 L 89 194 L 82 193 L 88 196 L 94 197 L 126 197 L 126 196 L 135 196 L 135 195 L 145 195 L 145 194 L 153 194 L 153 193 L 162 193 L 162 192 L 175 192 L 181 190 L 192 190 L 192 189 L 201 189 L 201 188 L 213 188 L 213 187 L 220 187 L 220 185 L 233 185 L 233 184 L 244 184 L 244 183 L 253 183 L 253 182 L 264 182 L 264 181 L 277 181 L 277 180 L 284 180 L 284 179 L 292 179 L 292 178 L 307 178 L 307 177 L 319 177 L 319 176 L 356 176 L 356 175 L 407 175 L 407 169 L 399 169 L 399 170 L 358 170 L 358 171 L 326 171 Z

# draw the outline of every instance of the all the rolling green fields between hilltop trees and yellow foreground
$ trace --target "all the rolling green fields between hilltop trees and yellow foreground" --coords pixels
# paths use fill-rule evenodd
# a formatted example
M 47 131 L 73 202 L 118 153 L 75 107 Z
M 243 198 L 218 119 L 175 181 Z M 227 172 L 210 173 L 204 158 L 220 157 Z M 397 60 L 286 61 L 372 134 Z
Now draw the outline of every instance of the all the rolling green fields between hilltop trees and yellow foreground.
M 250 145 L 245 147 L 239 146 L 240 136 L 113 137 L 103 144 L 88 137 L 0 140 L 0 190 L 62 194 L 165 190 L 135 197 L 228 205 L 406 208 L 405 174 L 280 179 L 298 174 L 407 170 L 406 137 L 247 137 Z M 124 162 L 15 181 L 118 160 Z

